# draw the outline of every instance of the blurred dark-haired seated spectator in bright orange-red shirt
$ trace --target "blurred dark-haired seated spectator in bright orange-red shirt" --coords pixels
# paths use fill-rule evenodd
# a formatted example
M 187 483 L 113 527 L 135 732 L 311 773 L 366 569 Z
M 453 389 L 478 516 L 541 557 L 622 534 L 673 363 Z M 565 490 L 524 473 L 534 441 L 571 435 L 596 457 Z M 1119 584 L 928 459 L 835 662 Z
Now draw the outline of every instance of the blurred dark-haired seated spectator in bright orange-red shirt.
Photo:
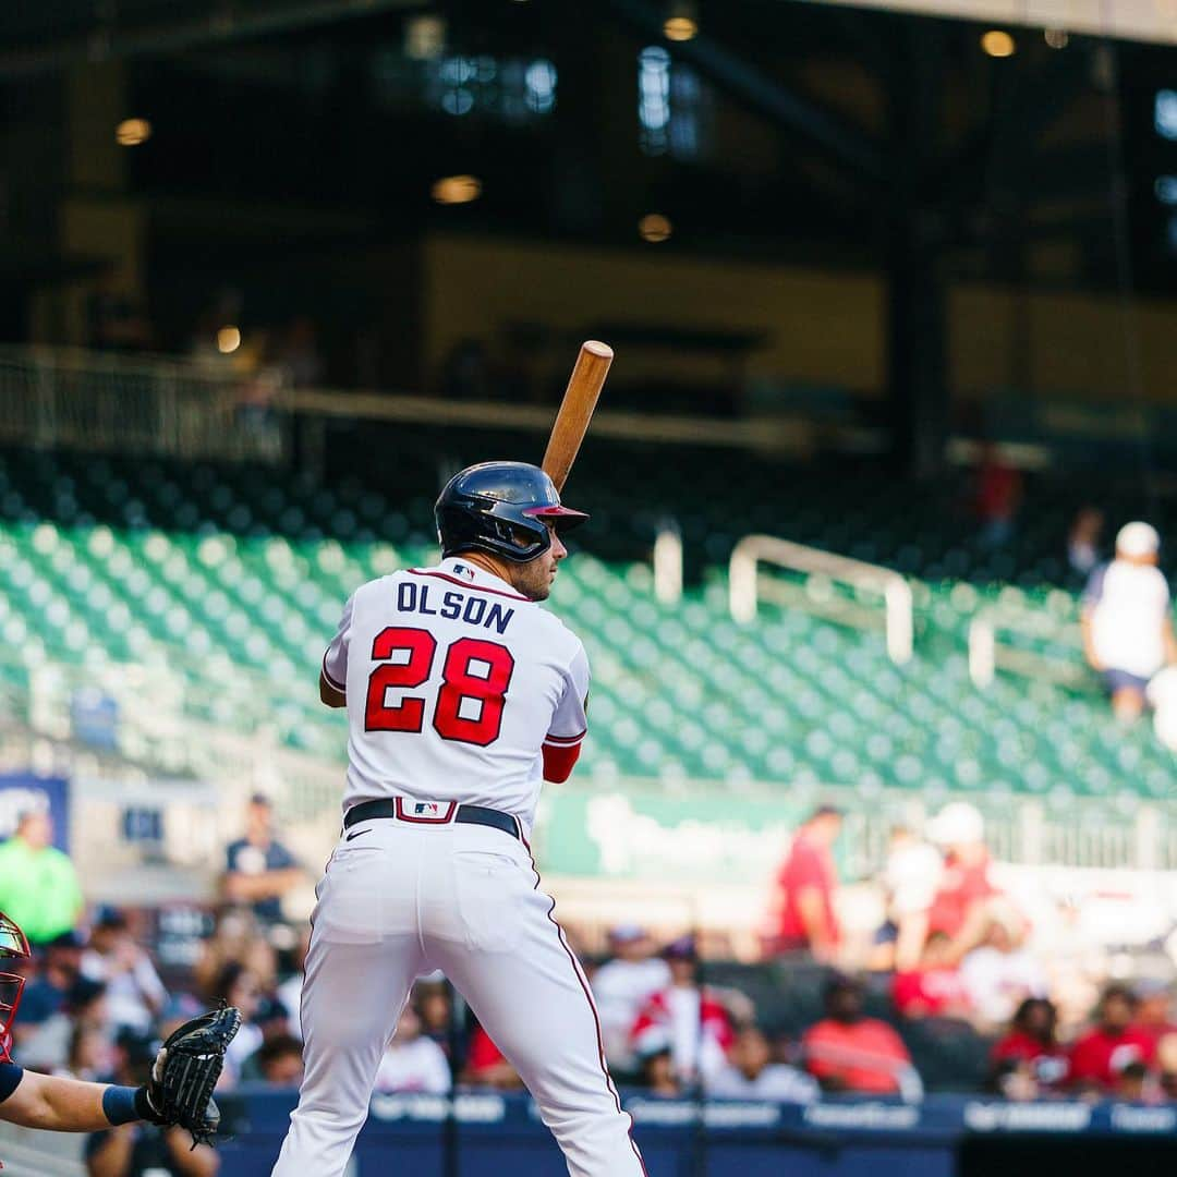
M 825 1091 L 897 1095 L 912 1072 L 903 1039 L 863 1013 L 863 986 L 834 976 L 825 986 L 825 1017 L 802 1038 L 805 1065 Z

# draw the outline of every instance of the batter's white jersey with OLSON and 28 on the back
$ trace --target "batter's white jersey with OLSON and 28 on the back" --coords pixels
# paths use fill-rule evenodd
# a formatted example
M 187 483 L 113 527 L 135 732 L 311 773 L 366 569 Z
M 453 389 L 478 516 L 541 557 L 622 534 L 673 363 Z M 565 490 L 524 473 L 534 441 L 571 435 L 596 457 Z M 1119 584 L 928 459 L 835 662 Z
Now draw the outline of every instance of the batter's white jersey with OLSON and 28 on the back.
M 526 832 L 543 746 L 585 736 L 580 639 L 505 580 L 461 557 L 361 585 L 322 659 L 347 693 L 345 810 L 403 797 L 484 805 Z M 412 811 L 415 806 L 410 806 Z

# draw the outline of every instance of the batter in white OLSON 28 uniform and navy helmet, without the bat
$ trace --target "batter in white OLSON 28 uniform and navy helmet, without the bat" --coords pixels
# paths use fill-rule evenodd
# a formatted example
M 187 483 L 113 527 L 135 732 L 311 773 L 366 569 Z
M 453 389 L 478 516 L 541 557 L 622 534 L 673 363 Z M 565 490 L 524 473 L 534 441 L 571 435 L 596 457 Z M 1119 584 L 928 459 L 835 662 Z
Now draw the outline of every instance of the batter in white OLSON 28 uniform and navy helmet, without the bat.
M 441 970 L 523 1077 L 572 1177 L 643 1177 L 584 971 L 528 851 L 585 736 L 588 661 L 538 605 L 587 516 L 494 461 L 437 501 L 443 559 L 359 587 L 319 692 L 347 707 L 344 830 L 319 884 L 306 1072 L 274 1177 L 340 1177 L 413 980 Z

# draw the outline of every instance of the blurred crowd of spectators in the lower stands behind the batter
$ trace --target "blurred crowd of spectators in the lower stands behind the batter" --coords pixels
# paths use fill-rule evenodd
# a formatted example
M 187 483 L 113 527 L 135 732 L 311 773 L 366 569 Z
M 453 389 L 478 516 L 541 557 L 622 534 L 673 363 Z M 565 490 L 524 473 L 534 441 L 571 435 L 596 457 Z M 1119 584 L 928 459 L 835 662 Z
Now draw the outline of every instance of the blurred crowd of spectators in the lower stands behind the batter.
M 638 925 L 611 929 L 605 953 L 581 952 L 620 1083 L 660 1097 L 916 1099 L 927 1086 L 929 1042 L 964 1030 L 983 1068 L 950 1073 L 949 1086 L 1010 1099 L 1177 1098 L 1170 985 L 1060 988 L 1073 962 L 1057 944 L 1053 962 L 1035 950 L 1030 920 L 992 877 L 971 805 L 945 806 L 926 831 L 893 831 L 878 880 L 885 918 L 865 944 L 852 943 L 839 915 L 842 824 L 823 806 L 797 830 L 759 965 L 703 959 L 692 936 L 658 942 Z M 305 879 L 270 803 L 254 797 L 242 836 L 226 847 L 211 933 L 186 967 L 165 969 L 145 946 L 141 912 L 100 907 L 84 918 L 48 818 L 27 814 L 0 847 L 0 909 L 22 918 L 35 945 L 24 965 L 14 1057 L 58 1075 L 134 1084 L 164 1036 L 224 1000 L 245 1020 L 221 1090 L 297 1086 L 308 929 L 284 919 L 282 899 Z M 441 1095 L 455 1085 L 521 1089 L 445 978 L 426 977 L 400 1013 L 375 1090 Z M 215 1153 L 181 1151 L 167 1133 L 132 1125 L 88 1143 L 88 1171 L 217 1172 Z

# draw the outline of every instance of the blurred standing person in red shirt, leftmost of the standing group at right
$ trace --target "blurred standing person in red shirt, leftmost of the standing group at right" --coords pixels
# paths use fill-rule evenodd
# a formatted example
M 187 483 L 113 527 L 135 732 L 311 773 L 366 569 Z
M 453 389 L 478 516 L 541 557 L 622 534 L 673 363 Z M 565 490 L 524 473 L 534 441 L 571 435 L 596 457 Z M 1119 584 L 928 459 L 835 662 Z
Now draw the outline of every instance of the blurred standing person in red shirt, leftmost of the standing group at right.
M 772 947 L 776 952 L 809 952 L 832 962 L 842 932 L 833 906 L 838 872 L 833 844 L 842 832 L 842 812 L 822 805 L 797 831 L 777 873 Z

